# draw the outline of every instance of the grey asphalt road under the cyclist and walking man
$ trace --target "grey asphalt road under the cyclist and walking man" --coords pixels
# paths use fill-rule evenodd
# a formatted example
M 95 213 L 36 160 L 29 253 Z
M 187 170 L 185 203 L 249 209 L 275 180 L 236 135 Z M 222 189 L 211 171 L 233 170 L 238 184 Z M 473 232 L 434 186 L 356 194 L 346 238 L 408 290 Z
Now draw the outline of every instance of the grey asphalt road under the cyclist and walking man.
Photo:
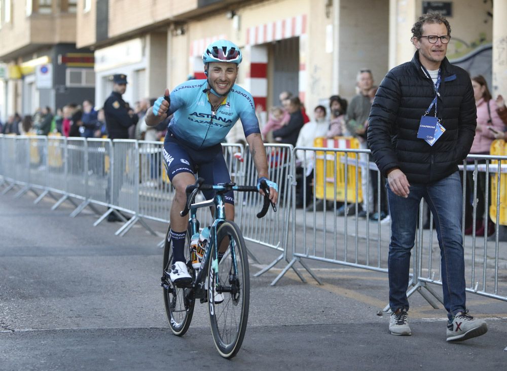
M 50 198 L 0 196 L 0 370 L 174 369 L 449 369 L 498 370 L 507 364 L 507 304 L 468 294 L 474 315 L 486 318 L 480 338 L 445 341 L 445 311 L 419 294 L 411 299 L 411 337 L 387 331 L 384 274 L 311 266 L 324 282 L 302 283 L 283 268 L 251 277 L 248 329 L 233 360 L 216 352 L 205 305 L 196 305 L 182 338 L 167 325 L 159 287 L 161 237 L 134 227 L 124 237 L 118 223 L 92 224 Z M 165 226 L 151 224 L 161 234 Z M 261 259 L 255 273 L 277 255 L 249 243 Z M 435 288 L 440 292 L 440 288 Z M 179 368 L 176 368 L 179 367 Z

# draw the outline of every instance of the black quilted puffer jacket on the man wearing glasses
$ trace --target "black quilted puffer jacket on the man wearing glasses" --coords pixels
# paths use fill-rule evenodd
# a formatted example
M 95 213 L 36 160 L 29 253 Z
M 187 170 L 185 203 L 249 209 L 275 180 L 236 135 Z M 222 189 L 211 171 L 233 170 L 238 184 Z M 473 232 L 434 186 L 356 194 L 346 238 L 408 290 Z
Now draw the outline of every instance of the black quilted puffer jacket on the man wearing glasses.
M 441 64 L 437 116 L 446 131 L 430 146 L 417 138 L 421 116 L 435 96 L 433 82 L 421 69 L 419 52 L 412 61 L 391 69 L 375 95 L 368 126 L 368 144 L 384 176 L 400 168 L 409 182 L 429 183 L 457 171 L 474 141 L 476 104 L 468 73 Z M 434 115 L 434 109 L 429 115 Z

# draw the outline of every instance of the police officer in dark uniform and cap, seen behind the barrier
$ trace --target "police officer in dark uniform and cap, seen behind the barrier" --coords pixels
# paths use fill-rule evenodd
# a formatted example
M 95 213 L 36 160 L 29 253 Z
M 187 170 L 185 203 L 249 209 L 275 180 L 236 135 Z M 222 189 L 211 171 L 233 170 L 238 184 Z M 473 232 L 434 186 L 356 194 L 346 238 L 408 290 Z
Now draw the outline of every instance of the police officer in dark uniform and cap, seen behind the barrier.
M 137 124 L 138 117 L 122 95 L 127 89 L 127 76 L 113 76 L 113 92 L 104 102 L 104 116 L 110 139 L 128 139 L 128 128 Z

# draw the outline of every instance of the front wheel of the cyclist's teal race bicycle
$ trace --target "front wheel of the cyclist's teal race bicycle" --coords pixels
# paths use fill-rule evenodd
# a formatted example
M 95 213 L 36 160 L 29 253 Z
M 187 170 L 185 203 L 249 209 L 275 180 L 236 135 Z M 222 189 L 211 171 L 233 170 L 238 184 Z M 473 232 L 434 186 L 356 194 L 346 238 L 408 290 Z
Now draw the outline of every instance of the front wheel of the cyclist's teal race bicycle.
M 216 246 L 227 239 L 229 247 L 220 262 L 214 259 Z M 208 308 L 211 332 L 216 349 L 225 358 L 232 358 L 241 348 L 248 321 L 250 275 L 245 241 L 239 227 L 225 221 L 217 231 L 208 267 Z M 224 301 L 215 303 L 215 292 Z

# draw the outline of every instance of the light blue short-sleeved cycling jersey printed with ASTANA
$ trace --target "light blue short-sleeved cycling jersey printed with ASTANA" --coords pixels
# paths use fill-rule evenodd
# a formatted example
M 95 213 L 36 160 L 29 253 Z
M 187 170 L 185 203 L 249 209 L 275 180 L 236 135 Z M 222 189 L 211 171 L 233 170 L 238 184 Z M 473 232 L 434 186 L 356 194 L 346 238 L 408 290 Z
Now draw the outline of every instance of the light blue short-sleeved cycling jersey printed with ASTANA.
M 224 141 L 238 119 L 245 137 L 261 132 L 250 93 L 234 84 L 213 115 L 206 87 L 207 80 L 189 80 L 171 92 L 168 114 L 174 116 L 167 128 L 176 138 L 196 150 L 210 147 Z

